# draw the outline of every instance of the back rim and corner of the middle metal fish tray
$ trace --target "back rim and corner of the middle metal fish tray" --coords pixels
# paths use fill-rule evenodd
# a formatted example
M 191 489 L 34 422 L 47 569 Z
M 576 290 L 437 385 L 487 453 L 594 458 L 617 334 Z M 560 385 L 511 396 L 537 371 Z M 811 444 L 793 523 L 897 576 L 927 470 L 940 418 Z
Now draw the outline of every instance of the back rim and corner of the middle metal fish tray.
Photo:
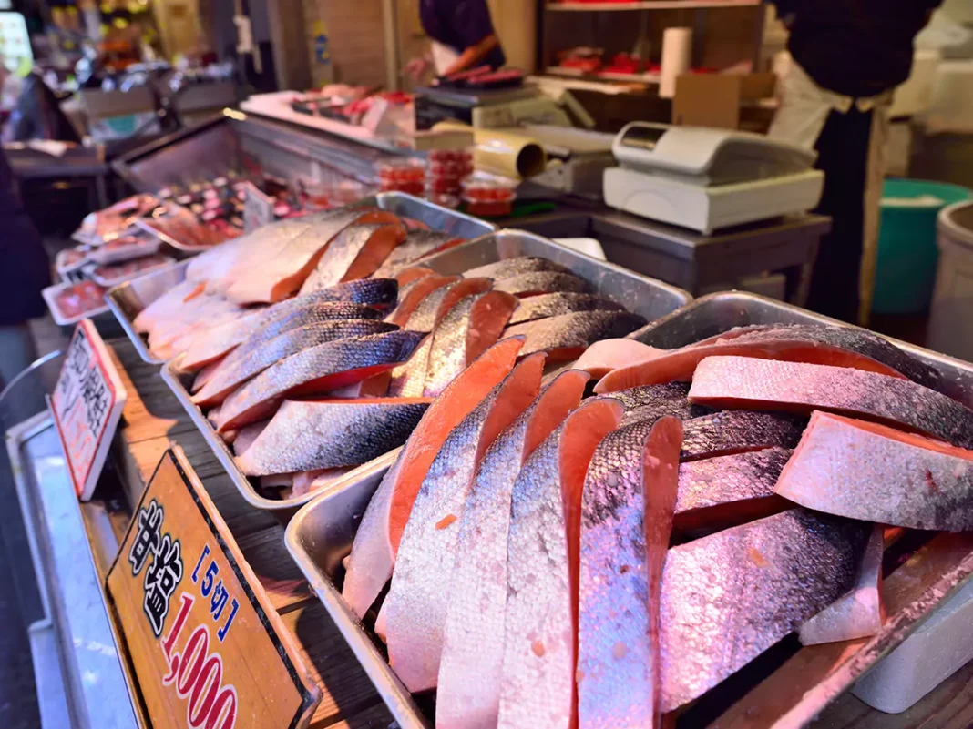
M 653 322 L 684 306 L 693 297 L 682 289 L 635 273 L 604 260 L 596 260 L 553 240 L 525 230 L 497 230 L 443 251 L 422 265 L 439 273 L 461 273 L 485 263 L 516 256 L 540 256 L 570 268 L 606 295 Z

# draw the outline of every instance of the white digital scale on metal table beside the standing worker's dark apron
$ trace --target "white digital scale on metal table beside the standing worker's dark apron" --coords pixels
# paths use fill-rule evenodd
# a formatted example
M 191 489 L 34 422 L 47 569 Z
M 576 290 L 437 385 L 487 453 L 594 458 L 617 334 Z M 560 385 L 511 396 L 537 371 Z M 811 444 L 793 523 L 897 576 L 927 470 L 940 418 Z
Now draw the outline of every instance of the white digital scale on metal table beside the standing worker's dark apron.
M 612 154 L 606 204 L 706 234 L 811 210 L 824 188 L 814 152 L 747 132 L 632 121 Z

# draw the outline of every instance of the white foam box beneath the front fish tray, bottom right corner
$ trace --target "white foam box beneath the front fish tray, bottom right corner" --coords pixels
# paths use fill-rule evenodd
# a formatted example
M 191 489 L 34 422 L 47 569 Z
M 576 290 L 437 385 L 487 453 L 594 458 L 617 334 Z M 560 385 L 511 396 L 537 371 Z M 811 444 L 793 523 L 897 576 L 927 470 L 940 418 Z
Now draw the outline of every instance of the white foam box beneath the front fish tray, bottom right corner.
M 862 677 L 851 693 L 880 712 L 905 712 L 971 659 L 973 581 Z

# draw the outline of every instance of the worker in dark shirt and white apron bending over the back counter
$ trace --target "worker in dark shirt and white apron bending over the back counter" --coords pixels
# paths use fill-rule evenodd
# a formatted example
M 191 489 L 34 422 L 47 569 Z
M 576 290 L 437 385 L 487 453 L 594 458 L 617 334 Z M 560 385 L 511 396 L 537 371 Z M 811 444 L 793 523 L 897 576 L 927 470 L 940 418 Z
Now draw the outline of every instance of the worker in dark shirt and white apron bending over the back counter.
M 429 55 L 414 58 L 406 72 L 421 76 L 430 63 L 437 76 L 507 62 L 493 30 L 486 0 L 419 0 L 419 20 L 431 39 Z

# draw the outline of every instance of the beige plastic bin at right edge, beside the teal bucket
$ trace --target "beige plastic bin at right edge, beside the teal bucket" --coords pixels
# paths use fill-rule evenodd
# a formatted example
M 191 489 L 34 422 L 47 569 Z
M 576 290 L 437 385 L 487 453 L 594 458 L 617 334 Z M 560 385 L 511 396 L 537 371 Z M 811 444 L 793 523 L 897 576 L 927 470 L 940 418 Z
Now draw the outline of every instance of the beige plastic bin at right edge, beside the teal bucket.
M 973 362 L 973 200 L 939 211 L 939 263 L 926 345 Z

